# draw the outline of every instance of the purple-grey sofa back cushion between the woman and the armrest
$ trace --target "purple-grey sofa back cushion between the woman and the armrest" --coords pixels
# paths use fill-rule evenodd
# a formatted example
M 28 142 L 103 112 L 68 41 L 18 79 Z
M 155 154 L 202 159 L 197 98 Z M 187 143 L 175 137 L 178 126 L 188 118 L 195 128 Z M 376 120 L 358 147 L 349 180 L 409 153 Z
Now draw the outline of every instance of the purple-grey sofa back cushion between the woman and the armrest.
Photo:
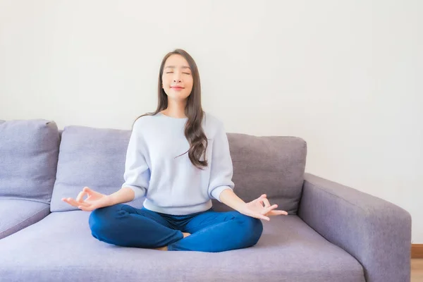
M 236 195 L 250 202 L 266 194 L 278 209 L 296 214 L 304 182 L 306 142 L 299 137 L 239 133 L 229 133 L 228 141 Z

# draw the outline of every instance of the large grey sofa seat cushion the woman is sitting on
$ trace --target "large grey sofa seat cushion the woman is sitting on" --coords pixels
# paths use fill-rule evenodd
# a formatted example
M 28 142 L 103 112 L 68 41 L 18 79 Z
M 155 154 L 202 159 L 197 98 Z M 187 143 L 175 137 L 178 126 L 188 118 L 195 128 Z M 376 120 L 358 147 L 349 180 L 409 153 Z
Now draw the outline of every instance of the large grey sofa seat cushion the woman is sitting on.
M 228 252 L 163 252 L 92 237 L 89 212 L 54 212 L 0 240 L 4 281 L 364 282 L 362 266 L 298 216 L 264 222 L 257 245 Z M 241 234 L 234 234 L 241 235 Z

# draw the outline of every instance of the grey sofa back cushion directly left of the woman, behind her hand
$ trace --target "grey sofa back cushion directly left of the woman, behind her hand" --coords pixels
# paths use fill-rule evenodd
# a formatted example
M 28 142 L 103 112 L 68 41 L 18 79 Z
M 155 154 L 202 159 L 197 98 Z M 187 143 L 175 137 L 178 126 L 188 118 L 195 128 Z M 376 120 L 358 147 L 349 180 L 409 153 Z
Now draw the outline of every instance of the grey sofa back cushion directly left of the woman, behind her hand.
M 75 198 L 85 186 L 106 195 L 121 188 L 129 137 L 130 130 L 65 127 L 61 133 L 51 212 L 77 209 L 61 198 Z M 142 200 L 134 202 L 142 207 Z

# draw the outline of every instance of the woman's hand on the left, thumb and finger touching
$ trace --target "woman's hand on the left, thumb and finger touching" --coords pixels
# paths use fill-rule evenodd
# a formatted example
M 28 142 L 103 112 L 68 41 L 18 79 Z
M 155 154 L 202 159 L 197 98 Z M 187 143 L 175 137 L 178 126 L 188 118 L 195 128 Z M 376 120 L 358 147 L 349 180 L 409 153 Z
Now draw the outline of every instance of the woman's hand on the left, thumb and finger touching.
M 84 200 L 85 195 L 88 197 Z M 101 207 L 109 207 L 113 204 L 110 197 L 107 197 L 107 195 L 99 192 L 95 192 L 88 187 L 84 187 L 84 189 L 79 192 L 76 200 L 73 198 L 62 198 L 61 200 L 71 204 L 73 207 L 78 207 L 78 209 L 82 209 L 82 211 L 85 212 L 91 212 L 94 209 L 99 209 Z

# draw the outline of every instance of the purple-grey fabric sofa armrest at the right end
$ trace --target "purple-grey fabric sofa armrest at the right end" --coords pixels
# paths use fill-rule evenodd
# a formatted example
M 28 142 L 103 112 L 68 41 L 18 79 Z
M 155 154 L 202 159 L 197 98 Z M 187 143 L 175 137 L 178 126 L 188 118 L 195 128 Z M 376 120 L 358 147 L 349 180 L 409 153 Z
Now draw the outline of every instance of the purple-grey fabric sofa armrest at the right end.
M 409 282 L 411 216 L 378 197 L 305 173 L 298 216 L 362 264 L 367 282 Z

